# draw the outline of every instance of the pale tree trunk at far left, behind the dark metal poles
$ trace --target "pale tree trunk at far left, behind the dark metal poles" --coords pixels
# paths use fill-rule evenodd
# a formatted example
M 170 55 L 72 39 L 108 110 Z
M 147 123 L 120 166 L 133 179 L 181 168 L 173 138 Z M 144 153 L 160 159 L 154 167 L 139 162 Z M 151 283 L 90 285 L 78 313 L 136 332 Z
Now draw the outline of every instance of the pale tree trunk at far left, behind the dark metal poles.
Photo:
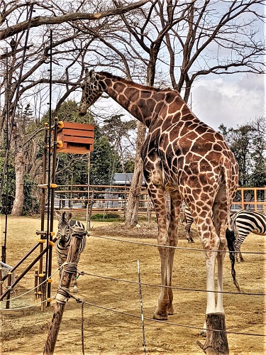
M 23 209 L 24 196 L 24 175 L 25 175 L 25 158 L 22 148 L 18 148 L 15 156 L 15 172 L 16 172 L 16 194 L 13 202 L 11 216 L 21 216 Z

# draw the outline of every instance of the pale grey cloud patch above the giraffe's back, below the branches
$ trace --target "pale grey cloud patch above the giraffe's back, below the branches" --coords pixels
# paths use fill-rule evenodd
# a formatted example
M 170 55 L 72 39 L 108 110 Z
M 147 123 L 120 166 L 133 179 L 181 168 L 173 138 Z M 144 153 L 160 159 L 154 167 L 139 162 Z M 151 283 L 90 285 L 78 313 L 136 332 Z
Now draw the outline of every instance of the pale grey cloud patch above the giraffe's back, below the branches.
M 241 75 L 199 80 L 192 89 L 192 111 L 214 129 L 221 123 L 235 128 L 264 116 L 263 79 L 263 75 Z

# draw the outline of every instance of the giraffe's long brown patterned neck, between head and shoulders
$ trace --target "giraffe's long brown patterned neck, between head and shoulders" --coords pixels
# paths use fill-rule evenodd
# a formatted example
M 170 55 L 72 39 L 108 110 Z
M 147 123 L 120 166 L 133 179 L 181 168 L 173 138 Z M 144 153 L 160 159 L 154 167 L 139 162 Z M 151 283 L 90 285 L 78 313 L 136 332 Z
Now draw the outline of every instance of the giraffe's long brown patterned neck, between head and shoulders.
M 179 107 L 184 105 L 178 92 L 173 90 L 140 85 L 106 72 L 99 72 L 98 75 L 104 91 L 145 126 L 149 127 L 153 118 L 157 118 L 171 102 L 175 105 L 178 102 Z

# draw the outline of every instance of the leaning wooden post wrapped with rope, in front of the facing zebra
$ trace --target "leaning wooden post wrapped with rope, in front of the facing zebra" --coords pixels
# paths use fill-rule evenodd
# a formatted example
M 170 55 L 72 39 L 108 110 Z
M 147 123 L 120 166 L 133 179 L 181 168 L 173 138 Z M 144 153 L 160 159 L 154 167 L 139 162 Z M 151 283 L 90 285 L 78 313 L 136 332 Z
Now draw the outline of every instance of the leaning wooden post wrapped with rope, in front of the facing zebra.
M 45 349 L 43 351 L 43 355 L 52 355 L 54 353 L 55 343 L 57 341 L 57 335 L 60 329 L 65 305 L 70 298 L 67 291 L 70 288 L 72 274 L 75 273 L 75 271 L 77 270 L 76 262 L 79 251 L 79 245 L 81 244 L 82 238 L 84 238 L 85 235 L 86 231 L 84 231 L 83 229 L 82 231 L 72 229 L 72 242 L 70 244 L 70 249 L 67 254 L 66 265 L 63 266 L 62 269 L 60 285 L 58 286 L 57 295 L 55 297 L 56 304 L 54 307 L 54 314 L 52 316 L 52 321 L 48 330 L 48 337 L 45 342 Z M 74 265 L 74 263 L 76 264 Z

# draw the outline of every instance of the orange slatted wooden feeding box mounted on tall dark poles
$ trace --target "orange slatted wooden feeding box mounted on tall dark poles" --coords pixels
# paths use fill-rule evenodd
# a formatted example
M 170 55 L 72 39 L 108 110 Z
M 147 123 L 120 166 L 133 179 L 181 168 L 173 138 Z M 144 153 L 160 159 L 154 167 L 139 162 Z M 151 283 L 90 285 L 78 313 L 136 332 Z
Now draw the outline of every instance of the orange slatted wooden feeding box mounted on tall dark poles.
M 57 152 L 85 154 L 94 150 L 94 125 L 63 122 L 57 131 Z

